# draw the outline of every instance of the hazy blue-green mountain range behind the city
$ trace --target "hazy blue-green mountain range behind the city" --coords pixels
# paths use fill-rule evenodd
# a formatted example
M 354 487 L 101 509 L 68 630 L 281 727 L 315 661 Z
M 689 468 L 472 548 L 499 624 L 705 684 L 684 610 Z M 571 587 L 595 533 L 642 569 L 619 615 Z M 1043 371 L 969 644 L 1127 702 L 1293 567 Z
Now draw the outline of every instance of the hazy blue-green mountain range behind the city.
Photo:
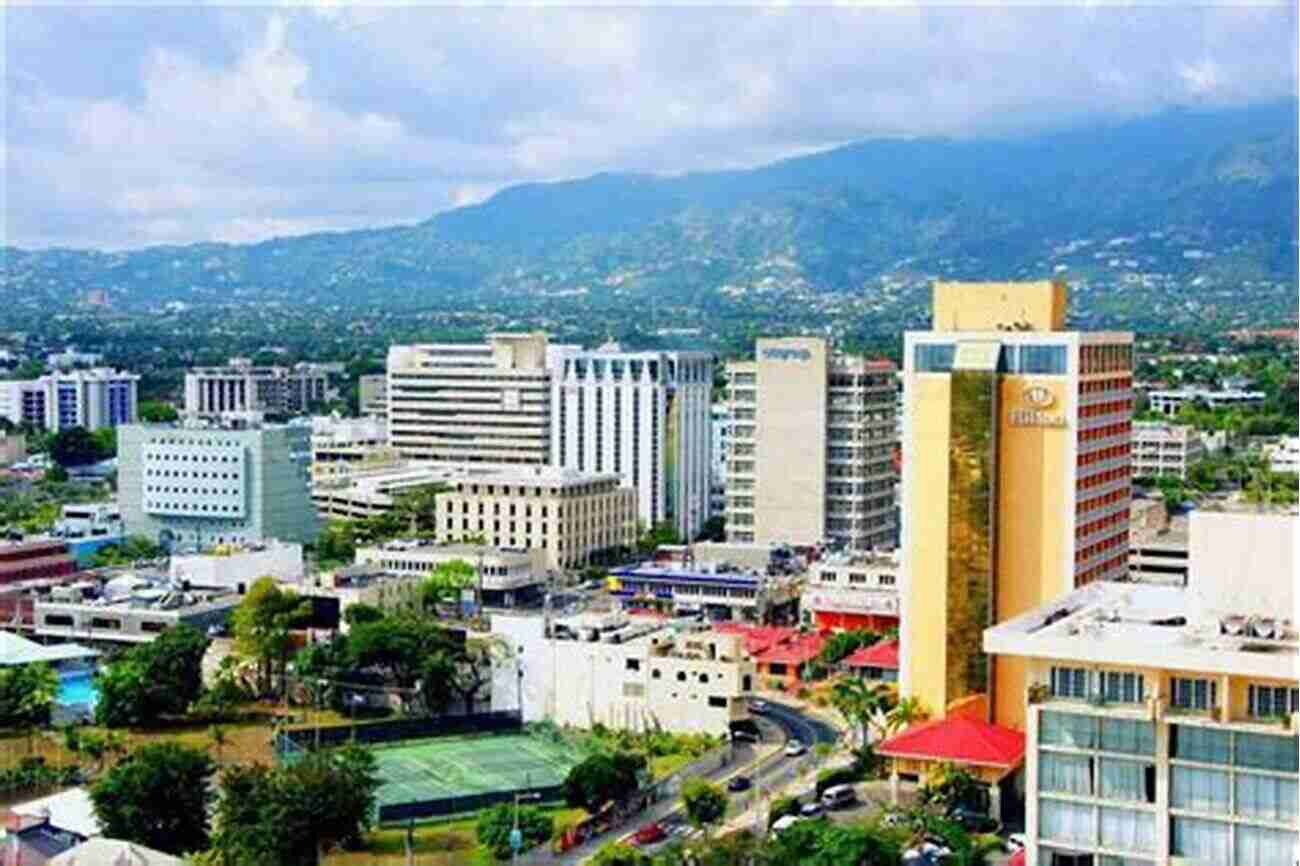
M 528 183 L 424 222 L 251 244 L 4 248 L 0 302 L 268 300 L 924 316 L 936 276 L 1060 274 L 1079 322 L 1295 316 L 1296 103 L 1005 139 L 864 140 L 749 170 Z M 870 328 L 868 328 L 870 329 Z

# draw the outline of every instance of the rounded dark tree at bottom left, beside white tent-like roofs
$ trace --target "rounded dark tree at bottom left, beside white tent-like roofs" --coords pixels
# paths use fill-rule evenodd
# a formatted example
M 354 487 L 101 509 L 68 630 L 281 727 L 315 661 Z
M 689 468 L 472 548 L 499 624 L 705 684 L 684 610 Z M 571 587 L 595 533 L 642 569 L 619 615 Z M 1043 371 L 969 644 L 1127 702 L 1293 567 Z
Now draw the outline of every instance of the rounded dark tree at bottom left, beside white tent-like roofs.
M 104 835 L 170 854 L 208 846 L 212 761 L 179 742 L 140 746 L 91 785 Z

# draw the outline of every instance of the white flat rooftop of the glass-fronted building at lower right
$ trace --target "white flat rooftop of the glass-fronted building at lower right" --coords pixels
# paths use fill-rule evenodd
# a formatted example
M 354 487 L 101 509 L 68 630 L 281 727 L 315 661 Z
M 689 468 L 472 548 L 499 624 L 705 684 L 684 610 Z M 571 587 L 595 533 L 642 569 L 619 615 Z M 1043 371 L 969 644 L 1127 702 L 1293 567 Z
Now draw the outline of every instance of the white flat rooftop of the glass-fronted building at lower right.
M 1294 614 L 1213 610 L 1184 586 L 1096 583 L 984 631 L 996 655 L 1300 676 Z

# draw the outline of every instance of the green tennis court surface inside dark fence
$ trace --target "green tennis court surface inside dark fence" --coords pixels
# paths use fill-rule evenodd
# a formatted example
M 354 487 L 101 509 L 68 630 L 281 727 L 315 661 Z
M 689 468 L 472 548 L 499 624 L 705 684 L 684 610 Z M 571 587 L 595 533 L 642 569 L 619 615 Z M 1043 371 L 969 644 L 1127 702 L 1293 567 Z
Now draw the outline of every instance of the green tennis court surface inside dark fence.
M 582 755 L 526 733 L 402 740 L 374 748 L 381 806 L 558 785 Z

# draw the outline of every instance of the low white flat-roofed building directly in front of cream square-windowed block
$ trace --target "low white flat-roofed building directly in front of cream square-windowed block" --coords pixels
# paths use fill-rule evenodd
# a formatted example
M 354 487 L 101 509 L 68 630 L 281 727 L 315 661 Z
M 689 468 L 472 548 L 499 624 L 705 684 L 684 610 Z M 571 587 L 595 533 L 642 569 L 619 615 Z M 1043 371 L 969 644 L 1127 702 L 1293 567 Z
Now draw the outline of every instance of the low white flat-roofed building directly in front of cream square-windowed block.
M 538 602 L 546 583 L 545 555 L 540 550 L 391 541 L 377 547 L 359 547 L 356 562 L 394 575 L 420 577 L 428 577 L 438 566 L 463 562 L 473 568 L 474 584 L 471 589 L 482 590 L 486 607 L 517 607 Z

